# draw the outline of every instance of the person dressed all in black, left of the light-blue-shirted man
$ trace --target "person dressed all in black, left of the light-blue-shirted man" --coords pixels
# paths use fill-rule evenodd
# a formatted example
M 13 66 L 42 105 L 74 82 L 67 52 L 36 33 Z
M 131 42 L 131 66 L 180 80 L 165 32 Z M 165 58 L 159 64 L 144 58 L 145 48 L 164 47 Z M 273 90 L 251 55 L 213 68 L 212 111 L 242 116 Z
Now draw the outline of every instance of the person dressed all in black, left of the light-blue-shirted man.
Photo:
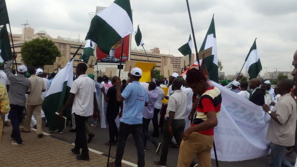
M 105 94 L 105 90 L 103 87 L 103 95 L 105 101 L 108 103 L 106 108 L 106 119 L 109 126 L 109 141 L 105 143 L 106 145 L 116 145 L 118 142 L 119 131 L 115 123 L 115 119 L 117 116 L 121 118 L 123 114 L 123 102 L 117 102 L 116 99 L 116 91 L 117 89 L 121 89 L 115 85 L 115 82 L 118 80 L 117 76 L 111 77 L 111 84 L 113 86 L 109 87 L 107 90 L 107 94 Z M 121 109 L 121 111 L 119 111 Z

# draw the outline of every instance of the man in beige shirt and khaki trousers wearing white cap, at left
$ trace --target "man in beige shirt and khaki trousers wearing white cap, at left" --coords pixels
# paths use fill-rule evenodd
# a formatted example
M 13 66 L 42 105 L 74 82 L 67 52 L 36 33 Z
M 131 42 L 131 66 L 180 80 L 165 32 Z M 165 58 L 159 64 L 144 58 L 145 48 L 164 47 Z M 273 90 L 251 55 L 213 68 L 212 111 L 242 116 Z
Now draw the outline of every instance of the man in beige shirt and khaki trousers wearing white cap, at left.
M 41 125 L 41 104 L 43 102 L 42 92 L 46 91 L 46 86 L 42 78 L 36 76 L 36 71 L 34 67 L 30 67 L 28 72 L 31 77 L 30 88 L 27 91 L 27 103 L 26 103 L 26 118 L 24 123 L 24 128 L 21 129 L 22 132 L 30 132 L 30 123 L 33 115 L 33 111 L 36 112 L 36 134 L 39 138 L 43 137 L 42 125 Z

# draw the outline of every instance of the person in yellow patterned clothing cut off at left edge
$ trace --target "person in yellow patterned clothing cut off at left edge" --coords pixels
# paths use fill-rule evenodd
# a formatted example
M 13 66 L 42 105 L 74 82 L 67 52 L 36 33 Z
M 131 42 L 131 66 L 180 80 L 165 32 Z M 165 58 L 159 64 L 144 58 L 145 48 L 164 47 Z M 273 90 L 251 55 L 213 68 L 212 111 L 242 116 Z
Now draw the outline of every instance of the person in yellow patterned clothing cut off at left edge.
M 0 83 L 0 114 L 5 115 L 8 113 L 9 107 L 9 100 L 6 91 L 6 86 Z M 0 117 L 0 141 L 2 140 L 2 131 L 3 130 L 3 122 L 2 118 Z

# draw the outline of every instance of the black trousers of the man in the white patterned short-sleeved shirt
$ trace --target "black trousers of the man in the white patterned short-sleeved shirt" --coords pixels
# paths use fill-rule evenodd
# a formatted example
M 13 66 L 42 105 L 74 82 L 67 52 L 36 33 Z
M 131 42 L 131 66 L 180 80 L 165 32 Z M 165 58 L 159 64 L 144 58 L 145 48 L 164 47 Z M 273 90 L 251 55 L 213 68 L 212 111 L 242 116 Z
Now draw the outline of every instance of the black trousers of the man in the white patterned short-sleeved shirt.
M 75 146 L 74 149 L 76 151 L 79 151 L 82 149 L 82 156 L 89 158 L 89 149 L 87 145 L 87 137 L 86 137 L 86 126 L 85 122 L 88 119 L 88 117 L 80 116 L 74 113 L 74 118 L 75 118 L 75 132 L 76 132 L 76 137 L 75 137 Z

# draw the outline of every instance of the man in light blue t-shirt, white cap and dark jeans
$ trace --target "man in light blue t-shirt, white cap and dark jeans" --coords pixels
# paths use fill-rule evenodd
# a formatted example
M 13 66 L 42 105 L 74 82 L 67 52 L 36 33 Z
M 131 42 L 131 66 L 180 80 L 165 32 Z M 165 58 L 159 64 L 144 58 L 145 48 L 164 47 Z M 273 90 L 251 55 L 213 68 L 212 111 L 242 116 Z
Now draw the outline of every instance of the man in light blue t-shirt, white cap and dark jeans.
M 138 167 L 145 166 L 145 151 L 142 135 L 142 118 L 145 106 L 148 106 L 148 93 L 146 89 L 139 83 L 142 76 L 140 68 L 133 68 L 128 74 L 132 81 L 121 93 L 121 81 L 117 80 L 115 85 L 118 87 L 116 98 L 118 102 L 125 100 L 125 111 L 120 120 L 119 138 L 116 148 L 115 162 L 111 163 L 111 167 L 121 167 L 124 155 L 125 143 L 127 137 L 132 133 L 138 156 Z M 121 113 L 120 113 L 121 114 Z M 120 116 L 119 114 L 119 116 Z

